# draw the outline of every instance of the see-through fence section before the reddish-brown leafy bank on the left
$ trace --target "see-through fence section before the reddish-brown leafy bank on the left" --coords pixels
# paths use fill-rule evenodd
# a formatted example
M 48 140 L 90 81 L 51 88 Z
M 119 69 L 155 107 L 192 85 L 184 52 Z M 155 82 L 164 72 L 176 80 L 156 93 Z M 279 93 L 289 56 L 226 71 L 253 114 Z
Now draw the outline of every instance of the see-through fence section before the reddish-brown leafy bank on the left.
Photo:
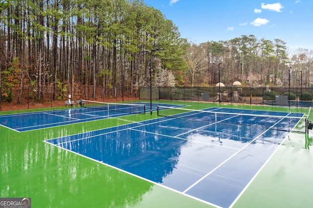
M 70 93 L 70 91 L 72 91 Z M 0 87 L 0 111 L 3 111 L 2 107 L 4 105 L 19 105 L 23 109 L 39 108 L 44 107 L 55 107 L 57 100 L 68 100 L 68 95 L 71 94 L 71 100 L 80 100 L 80 99 L 93 99 L 93 86 L 79 86 L 78 88 L 67 89 L 65 92 L 61 92 L 60 89 L 55 91 L 55 99 L 53 95 L 53 86 L 43 87 L 39 92 L 38 88 L 34 87 Z M 114 98 L 112 89 L 104 91 L 102 86 L 97 86 L 95 88 L 95 95 L 97 101 L 107 102 L 110 101 L 127 101 L 137 98 L 139 99 L 139 93 L 137 88 L 131 88 L 129 86 L 119 87 L 116 92 L 116 97 Z M 59 97 L 59 99 L 58 99 Z M 36 105 L 36 104 L 45 104 L 45 105 Z M 13 110 L 13 108 L 12 108 Z

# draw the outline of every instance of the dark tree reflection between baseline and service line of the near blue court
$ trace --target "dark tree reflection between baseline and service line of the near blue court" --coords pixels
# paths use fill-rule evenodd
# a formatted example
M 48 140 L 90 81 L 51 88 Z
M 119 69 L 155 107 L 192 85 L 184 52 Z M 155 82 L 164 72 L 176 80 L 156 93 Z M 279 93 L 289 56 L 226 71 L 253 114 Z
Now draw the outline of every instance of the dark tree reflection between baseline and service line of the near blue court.
M 181 146 L 187 142 L 132 130 L 104 133 L 86 139 L 80 137 L 77 135 L 72 142 L 59 146 L 157 183 L 165 175 L 171 174 Z

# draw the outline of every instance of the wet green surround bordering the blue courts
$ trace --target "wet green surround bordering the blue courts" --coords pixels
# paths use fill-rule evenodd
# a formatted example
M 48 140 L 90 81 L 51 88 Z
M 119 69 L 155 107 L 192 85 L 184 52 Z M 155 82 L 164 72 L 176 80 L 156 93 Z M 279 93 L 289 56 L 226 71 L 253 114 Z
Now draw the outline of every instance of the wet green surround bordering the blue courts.
M 190 105 L 189 109 L 219 106 L 217 103 L 159 102 Z M 221 106 L 297 113 L 309 111 L 308 108 Z M 40 110 L 50 109 L 37 111 Z M 7 113 L 18 112 L 0 112 Z M 32 208 L 212 207 L 43 142 L 156 117 L 156 112 L 153 115 L 135 114 L 20 133 L 0 126 L 0 197 L 30 197 Z M 312 143 L 312 137 L 312 130 L 308 141 L 305 141 L 304 134 L 290 133 L 233 207 L 312 207 L 313 153 L 312 146 L 308 145 Z

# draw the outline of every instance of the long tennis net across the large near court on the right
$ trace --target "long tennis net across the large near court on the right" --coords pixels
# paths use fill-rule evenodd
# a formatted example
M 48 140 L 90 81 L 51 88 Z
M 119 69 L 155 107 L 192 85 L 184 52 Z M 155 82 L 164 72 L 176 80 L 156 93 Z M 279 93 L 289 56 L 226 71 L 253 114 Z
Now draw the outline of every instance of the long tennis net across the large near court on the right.
M 262 128 L 280 130 L 287 132 L 307 132 L 307 119 L 304 113 L 284 113 L 253 111 L 246 113 L 225 113 L 214 110 L 192 110 L 185 108 L 174 108 L 167 106 L 157 106 L 157 115 L 171 118 L 188 119 L 192 121 L 202 121 L 209 124 L 225 124 L 247 126 L 249 128 Z

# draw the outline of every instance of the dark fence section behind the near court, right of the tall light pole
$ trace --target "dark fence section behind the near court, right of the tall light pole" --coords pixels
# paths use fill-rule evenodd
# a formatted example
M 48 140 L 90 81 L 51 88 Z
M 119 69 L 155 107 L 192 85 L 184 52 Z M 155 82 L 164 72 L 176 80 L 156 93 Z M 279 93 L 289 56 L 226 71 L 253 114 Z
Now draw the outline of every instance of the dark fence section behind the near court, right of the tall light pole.
M 152 99 L 310 107 L 313 103 L 312 99 L 304 101 L 301 100 L 303 96 L 299 97 L 304 92 L 313 95 L 313 88 L 268 86 L 155 87 L 152 88 Z M 280 99 L 277 100 L 278 97 Z M 284 99 L 281 101 L 282 97 L 285 98 L 285 101 Z M 150 99 L 150 88 L 141 87 L 139 98 Z

